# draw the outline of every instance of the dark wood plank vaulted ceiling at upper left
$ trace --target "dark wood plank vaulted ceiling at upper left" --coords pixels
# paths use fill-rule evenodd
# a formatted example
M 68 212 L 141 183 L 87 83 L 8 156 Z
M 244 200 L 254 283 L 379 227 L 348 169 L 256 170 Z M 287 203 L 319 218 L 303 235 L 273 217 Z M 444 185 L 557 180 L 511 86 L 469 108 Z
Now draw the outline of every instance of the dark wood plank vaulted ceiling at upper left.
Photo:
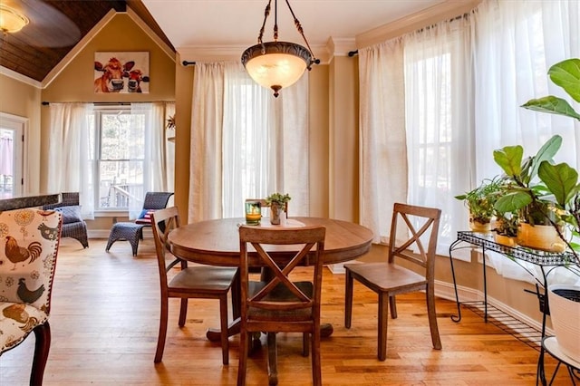
M 0 65 L 38 82 L 42 82 L 111 9 L 125 12 L 127 6 L 131 7 L 173 48 L 140 0 L 2 0 L 2 4 L 26 15 L 30 23 L 18 33 L 2 36 Z

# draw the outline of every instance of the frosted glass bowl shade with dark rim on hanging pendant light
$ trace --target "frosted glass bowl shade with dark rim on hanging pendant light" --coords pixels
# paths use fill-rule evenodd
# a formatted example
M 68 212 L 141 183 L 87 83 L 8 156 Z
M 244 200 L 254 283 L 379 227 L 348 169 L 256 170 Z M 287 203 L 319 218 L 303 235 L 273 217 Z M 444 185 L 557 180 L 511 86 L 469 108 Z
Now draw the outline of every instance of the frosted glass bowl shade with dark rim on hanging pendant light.
M 274 90 L 275 96 L 297 82 L 312 60 L 306 48 L 288 42 L 256 44 L 242 54 L 247 73 L 256 83 Z

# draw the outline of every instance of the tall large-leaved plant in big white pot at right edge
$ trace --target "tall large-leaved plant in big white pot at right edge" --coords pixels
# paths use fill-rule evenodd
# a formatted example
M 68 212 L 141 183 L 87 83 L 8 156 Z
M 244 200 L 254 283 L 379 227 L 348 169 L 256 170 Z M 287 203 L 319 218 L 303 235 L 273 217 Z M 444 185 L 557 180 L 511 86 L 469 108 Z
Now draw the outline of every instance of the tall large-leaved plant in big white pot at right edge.
M 580 59 L 568 59 L 554 64 L 548 71 L 550 79 L 576 102 L 580 102 Z M 565 100 L 547 96 L 523 105 L 524 108 L 564 115 L 580 121 L 578 114 Z M 566 163 L 554 165 L 546 160 L 538 167 L 539 179 L 554 196 L 555 206 L 561 211 L 561 219 L 573 237 L 580 236 L 580 184 L 578 172 Z M 563 232 L 558 235 L 575 256 L 580 265 L 580 246 L 569 241 Z M 580 287 L 578 285 L 548 285 L 548 304 L 556 340 L 565 355 L 580 362 Z

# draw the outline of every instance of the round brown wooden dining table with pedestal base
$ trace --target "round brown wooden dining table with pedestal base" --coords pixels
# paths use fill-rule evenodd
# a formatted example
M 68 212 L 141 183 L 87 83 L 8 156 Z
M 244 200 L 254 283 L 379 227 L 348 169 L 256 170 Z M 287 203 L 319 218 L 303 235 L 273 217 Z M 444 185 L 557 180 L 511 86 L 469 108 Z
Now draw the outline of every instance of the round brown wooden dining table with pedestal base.
M 221 266 L 238 266 L 240 261 L 239 236 L 237 228 L 245 224 L 244 218 L 218 218 L 191 223 L 172 230 L 168 236 L 169 250 L 174 256 L 184 260 Z M 372 230 L 362 225 L 325 217 L 288 217 L 283 225 L 272 225 L 267 217 L 263 217 L 260 224 L 253 227 L 315 227 L 326 228 L 324 239 L 324 265 L 340 264 L 363 256 L 371 249 Z M 276 260 L 290 259 L 296 246 L 266 246 L 266 250 Z M 248 251 L 249 265 L 263 268 L 256 252 Z M 235 285 L 236 286 L 236 285 Z M 237 284 L 239 286 L 239 283 Z M 239 288 L 232 289 L 232 314 L 233 322 L 229 323 L 228 335 L 240 332 L 239 320 Z M 238 299 L 237 299 L 238 298 Z M 236 300 L 237 299 L 237 300 Z M 321 325 L 321 336 L 329 336 L 333 333 L 330 323 Z M 219 331 L 209 329 L 206 334 L 213 342 L 219 341 Z M 275 335 L 268 334 L 268 372 L 275 377 Z M 272 384 L 272 383 L 271 383 Z

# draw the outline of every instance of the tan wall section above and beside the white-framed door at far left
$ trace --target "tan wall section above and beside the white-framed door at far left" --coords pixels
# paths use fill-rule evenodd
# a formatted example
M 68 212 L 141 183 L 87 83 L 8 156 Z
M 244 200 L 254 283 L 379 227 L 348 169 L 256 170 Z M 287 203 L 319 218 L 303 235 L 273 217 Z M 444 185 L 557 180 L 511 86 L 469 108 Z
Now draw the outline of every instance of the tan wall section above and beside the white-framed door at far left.
M 40 190 L 41 91 L 33 85 L 0 74 L 0 111 L 28 119 L 24 195 L 46 193 Z

